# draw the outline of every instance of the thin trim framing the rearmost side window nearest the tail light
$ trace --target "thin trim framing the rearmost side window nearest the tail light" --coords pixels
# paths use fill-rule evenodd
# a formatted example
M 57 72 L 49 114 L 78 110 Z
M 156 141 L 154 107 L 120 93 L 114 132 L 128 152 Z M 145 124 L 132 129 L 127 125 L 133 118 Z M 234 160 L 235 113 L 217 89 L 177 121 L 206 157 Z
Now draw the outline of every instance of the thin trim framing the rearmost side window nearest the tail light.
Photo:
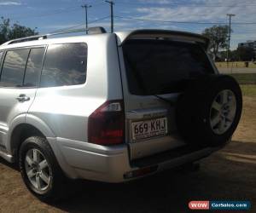
M 72 85 L 61 85 L 61 86 L 51 86 L 51 87 L 42 87 L 41 86 L 41 81 L 42 81 L 42 74 L 43 74 L 43 68 L 44 68 L 44 62 L 45 62 L 45 58 L 47 55 L 47 51 L 50 45 L 55 45 L 55 44 L 71 44 L 71 43 L 84 43 L 86 46 L 86 51 L 87 51 L 87 55 L 86 55 L 86 69 L 85 69 L 85 81 L 84 83 L 79 83 L 79 84 L 72 84 Z M 49 89 L 49 88 L 60 88 L 60 87 L 71 87 L 71 86 L 79 86 L 79 85 L 84 85 L 87 81 L 87 68 L 88 68 L 88 44 L 86 42 L 68 42 L 68 43 L 49 43 L 46 45 L 45 47 L 45 52 L 44 52 L 44 60 L 43 60 L 43 65 L 42 65 L 42 69 L 41 69 L 41 74 L 40 74 L 40 81 L 39 81 L 39 85 L 38 85 L 38 89 Z

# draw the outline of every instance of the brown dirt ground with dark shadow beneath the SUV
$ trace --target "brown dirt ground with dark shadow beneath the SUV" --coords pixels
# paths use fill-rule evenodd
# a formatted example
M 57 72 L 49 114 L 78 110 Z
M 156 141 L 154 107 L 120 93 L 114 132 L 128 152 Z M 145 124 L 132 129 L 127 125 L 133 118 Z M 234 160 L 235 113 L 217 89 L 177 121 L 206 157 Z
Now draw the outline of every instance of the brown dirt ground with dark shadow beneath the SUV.
M 76 181 L 73 197 L 49 205 L 28 193 L 18 170 L 0 160 L 0 212 L 187 212 L 190 200 L 249 200 L 256 212 L 255 153 L 256 98 L 245 97 L 233 141 L 202 160 L 199 171 L 167 171 L 118 185 Z

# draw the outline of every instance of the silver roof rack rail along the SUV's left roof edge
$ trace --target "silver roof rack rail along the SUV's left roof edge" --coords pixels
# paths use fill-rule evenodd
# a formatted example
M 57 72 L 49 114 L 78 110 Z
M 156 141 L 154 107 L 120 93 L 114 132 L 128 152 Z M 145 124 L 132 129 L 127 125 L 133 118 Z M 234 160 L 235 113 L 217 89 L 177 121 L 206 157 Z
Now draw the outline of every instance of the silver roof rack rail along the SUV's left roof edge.
M 6 43 L 3 43 L 2 45 L 9 45 L 12 43 L 22 43 L 22 42 L 35 41 L 35 40 L 43 40 L 51 36 L 57 36 L 57 35 L 62 35 L 67 33 L 75 33 L 75 32 L 88 32 L 88 34 L 92 35 L 92 34 L 106 33 L 106 30 L 102 26 L 95 26 L 95 27 L 89 27 L 87 29 L 76 29 L 76 30 L 70 30 L 70 31 L 67 30 L 62 32 L 53 32 L 49 34 L 37 35 L 37 36 L 31 36 L 31 37 L 20 37 L 14 40 L 10 40 Z

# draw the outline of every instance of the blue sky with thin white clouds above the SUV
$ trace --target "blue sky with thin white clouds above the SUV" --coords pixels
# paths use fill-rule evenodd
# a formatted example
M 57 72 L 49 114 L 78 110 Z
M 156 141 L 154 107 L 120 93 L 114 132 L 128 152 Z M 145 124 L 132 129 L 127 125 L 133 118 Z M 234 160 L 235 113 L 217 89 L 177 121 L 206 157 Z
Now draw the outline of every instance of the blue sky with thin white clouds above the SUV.
M 40 34 L 84 27 L 88 4 L 89 26 L 109 31 L 110 7 L 103 0 L 0 0 L 0 16 L 12 23 L 36 28 Z M 114 31 L 138 28 L 201 33 L 232 17 L 231 49 L 237 43 L 256 40 L 256 0 L 115 0 Z M 188 23 L 189 22 L 189 23 Z

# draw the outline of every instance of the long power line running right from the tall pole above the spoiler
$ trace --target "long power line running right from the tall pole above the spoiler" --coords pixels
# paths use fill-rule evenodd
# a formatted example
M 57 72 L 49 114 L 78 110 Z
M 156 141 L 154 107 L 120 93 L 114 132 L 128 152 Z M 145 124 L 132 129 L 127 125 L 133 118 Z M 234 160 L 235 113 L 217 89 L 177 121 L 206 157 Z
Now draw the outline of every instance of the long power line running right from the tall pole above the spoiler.
M 143 18 L 134 18 L 129 16 L 115 15 L 114 17 L 125 20 L 143 20 L 143 21 L 153 21 L 162 23 L 174 23 L 174 24 L 195 24 L 195 25 L 227 25 L 225 22 L 201 22 L 201 21 L 178 21 L 178 20 L 151 20 Z M 256 25 L 256 22 L 233 22 L 233 25 Z

